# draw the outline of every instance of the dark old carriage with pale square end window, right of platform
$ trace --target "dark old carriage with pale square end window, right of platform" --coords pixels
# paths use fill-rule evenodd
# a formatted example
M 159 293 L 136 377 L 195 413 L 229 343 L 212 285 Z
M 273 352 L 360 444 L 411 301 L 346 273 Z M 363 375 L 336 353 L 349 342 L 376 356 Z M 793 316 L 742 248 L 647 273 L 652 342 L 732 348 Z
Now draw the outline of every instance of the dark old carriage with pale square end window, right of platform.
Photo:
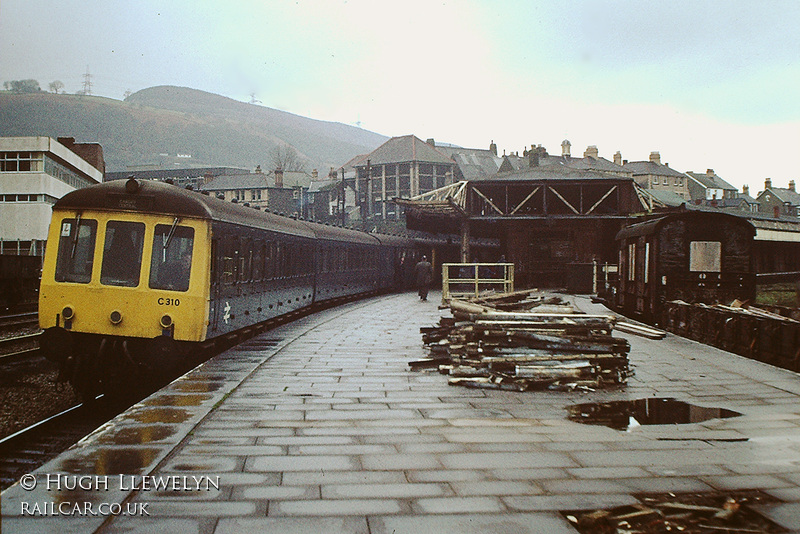
M 616 307 L 658 324 L 668 301 L 753 299 L 754 236 L 746 219 L 705 211 L 672 213 L 622 229 L 616 236 Z

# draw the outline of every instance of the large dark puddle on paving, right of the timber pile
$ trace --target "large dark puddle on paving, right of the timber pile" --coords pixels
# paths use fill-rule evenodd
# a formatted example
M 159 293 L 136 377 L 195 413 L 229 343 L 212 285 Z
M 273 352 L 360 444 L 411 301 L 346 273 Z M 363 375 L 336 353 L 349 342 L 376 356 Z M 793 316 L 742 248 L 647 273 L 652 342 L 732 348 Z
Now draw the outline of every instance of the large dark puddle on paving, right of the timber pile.
M 640 425 L 682 425 L 709 419 L 738 417 L 725 408 L 694 406 L 672 398 L 576 404 L 567 408 L 569 419 L 587 425 L 630 430 Z

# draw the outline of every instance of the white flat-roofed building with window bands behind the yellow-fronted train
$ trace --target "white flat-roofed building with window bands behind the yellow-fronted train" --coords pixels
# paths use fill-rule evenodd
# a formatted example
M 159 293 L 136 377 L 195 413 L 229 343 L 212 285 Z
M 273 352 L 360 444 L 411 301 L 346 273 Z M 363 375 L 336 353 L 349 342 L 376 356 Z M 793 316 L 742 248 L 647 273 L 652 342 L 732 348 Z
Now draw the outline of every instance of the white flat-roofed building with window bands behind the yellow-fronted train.
M 0 137 L 0 254 L 41 256 L 52 206 L 103 181 L 103 150 L 71 137 Z

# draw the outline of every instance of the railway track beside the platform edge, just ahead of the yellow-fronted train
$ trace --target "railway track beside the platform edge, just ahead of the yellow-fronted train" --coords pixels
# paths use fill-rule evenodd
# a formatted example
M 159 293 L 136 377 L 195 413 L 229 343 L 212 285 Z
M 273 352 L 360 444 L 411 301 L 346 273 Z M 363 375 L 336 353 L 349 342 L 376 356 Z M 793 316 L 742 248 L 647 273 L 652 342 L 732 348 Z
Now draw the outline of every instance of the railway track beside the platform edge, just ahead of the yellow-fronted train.
M 122 409 L 98 398 L 0 440 L 0 491 L 67 450 Z

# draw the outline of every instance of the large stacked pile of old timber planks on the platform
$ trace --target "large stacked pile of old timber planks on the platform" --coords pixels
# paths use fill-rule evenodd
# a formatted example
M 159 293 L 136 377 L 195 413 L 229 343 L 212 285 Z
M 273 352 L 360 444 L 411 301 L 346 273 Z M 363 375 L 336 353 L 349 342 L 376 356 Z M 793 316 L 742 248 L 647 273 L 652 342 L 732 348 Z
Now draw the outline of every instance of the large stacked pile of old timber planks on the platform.
M 450 385 L 513 391 L 596 389 L 633 374 L 628 341 L 611 335 L 613 316 L 576 313 L 560 299 L 528 309 L 451 300 L 453 317 L 420 328 L 429 357 L 409 366 L 438 369 Z

